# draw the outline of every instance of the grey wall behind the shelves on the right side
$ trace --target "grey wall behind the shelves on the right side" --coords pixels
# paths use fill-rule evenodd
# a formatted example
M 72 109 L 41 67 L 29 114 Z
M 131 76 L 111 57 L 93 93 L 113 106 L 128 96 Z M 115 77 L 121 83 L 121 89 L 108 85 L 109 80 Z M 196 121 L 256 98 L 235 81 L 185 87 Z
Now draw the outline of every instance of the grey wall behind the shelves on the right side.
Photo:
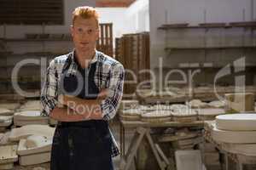
M 255 64 L 253 50 L 228 49 L 205 51 L 172 51 L 166 47 L 215 47 L 256 45 L 256 31 L 235 29 L 204 29 L 163 31 L 157 28 L 163 24 L 189 23 L 196 26 L 205 22 L 236 22 L 256 20 L 255 0 L 150 0 L 150 67 L 157 72 L 159 59 L 163 67 L 177 68 L 180 63 L 210 62 L 214 67 L 223 66 L 246 55 L 248 64 Z M 206 41 L 206 44 L 205 44 Z M 207 53 L 207 54 L 206 54 Z M 168 70 L 168 69 L 167 69 Z M 215 69 L 216 70 L 216 69 Z M 203 74 L 207 74 L 204 71 Z M 158 72 L 157 72 L 158 75 Z M 214 75 L 214 74 L 212 74 Z M 203 77 L 206 77 L 203 76 Z M 201 79 L 205 81 L 206 79 Z

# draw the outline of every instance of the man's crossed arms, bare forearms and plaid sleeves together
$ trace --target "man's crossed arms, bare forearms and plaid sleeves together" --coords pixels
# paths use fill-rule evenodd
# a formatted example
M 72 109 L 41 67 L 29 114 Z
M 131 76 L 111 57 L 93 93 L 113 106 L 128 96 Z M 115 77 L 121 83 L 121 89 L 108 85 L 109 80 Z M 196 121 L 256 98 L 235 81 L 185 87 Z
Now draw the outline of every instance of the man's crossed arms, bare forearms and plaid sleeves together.
M 108 72 L 108 73 L 107 73 Z M 104 72 L 108 75 L 108 86 L 97 96 L 97 99 L 79 99 L 64 95 L 58 99 L 58 71 L 55 61 L 49 63 L 44 86 L 41 93 L 42 116 L 50 116 L 61 122 L 74 122 L 90 119 L 110 120 L 115 116 L 122 99 L 125 69 L 123 65 L 112 65 Z M 64 105 L 58 107 L 58 104 Z

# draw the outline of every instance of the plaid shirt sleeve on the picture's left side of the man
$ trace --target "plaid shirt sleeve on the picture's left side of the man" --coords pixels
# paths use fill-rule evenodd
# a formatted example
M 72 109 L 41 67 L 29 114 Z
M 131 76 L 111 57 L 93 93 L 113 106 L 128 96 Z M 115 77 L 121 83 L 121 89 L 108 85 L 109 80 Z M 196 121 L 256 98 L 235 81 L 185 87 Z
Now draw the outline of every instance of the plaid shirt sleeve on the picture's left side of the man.
M 44 85 L 41 90 L 41 116 L 49 116 L 50 111 L 52 111 L 57 104 L 57 77 L 55 60 L 52 60 L 47 68 L 44 77 Z

